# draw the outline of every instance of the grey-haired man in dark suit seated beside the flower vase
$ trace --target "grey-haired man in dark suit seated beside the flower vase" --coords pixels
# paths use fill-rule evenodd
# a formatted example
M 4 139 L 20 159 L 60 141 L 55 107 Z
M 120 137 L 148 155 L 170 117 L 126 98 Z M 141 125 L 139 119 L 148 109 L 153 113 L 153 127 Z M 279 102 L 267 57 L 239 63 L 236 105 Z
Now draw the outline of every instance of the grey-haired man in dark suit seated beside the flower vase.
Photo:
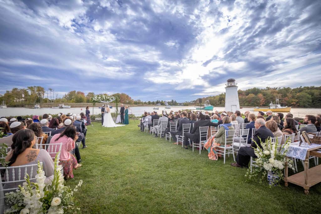
M 253 149 L 257 147 L 256 144 L 262 148 L 261 141 L 265 142 L 268 138 L 274 137 L 271 130 L 265 127 L 265 120 L 262 118 L 256 119 L 255 128 L 256 131 L 251 142 L 251 147 L 241 147 L 238 155 L 236 156 L 236 163 L 231 163 L 231 166 L 248 167 L 251 157 L 256 158 Z

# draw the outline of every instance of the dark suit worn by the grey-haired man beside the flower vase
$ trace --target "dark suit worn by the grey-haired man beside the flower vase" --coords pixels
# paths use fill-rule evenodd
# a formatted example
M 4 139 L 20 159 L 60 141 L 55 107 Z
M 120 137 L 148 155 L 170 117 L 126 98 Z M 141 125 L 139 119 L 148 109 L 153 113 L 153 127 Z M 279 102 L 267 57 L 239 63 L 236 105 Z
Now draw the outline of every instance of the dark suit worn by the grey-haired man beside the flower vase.
M 265 142 L 265 140 L 268 139 L 269 137 L 274 137 L 273 133 L 271 132 L 271 130 L 266 128 L 265 125 L 261 126 L 254 133 L 253 141 L 251 142 L 251 147 L 256 148 L 256 144 L 255 144 L 255 142 L 256 142 L 257 145 L 262 148 L 261 141 L 260 141 L 259 138 L 261 138 L 262 142 Z M 251 148 L 251 147 L 241 147 L 239 149 L 239 153 L 236 156 L 236 162 L 240 166 L 247 167 L 248 166 L 248 162 L 250 162 L 250 157 L 256 158 L 256 156 L 254 154 L 254 149 Z

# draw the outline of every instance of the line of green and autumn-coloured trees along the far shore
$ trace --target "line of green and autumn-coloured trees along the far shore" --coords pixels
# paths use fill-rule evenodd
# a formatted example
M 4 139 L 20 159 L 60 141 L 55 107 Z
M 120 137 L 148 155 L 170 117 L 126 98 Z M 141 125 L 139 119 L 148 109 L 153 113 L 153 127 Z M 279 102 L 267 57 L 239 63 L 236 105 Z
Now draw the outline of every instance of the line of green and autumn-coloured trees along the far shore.
M 238 90 L 240 106 L 268 106 L 271 102 L 275 103 L 275 97 L 278 96 L 282 106 L 292 107 L 321 107 L 321 87 L 306 86 L 298 88 L 270 88 L 265 89 L 251 88 L 247 90 Z M 55 98 L 56 95 L 56 98 Z M 198 100 L 186 101 L 178 103 L 176 100 L 156 100 L 156 101 L 142 101 L 134 100 L 125 93 L 110 94 L 118 97 L 119 103 L 135 104 L 135 105 L 195 105 L 198 106 Z M 69 91 L 63 97 L 58 98 L 57 93 L 52 88 L 46 90 L 41 86 L 29 86 L 25 89 L 13 88 L 7 90 L 4 95 L 0 95 L 0 102 L 5 101 L 8 106 L 22 107 L 25 105 L 32 105 L 35 103 L 90 103 L 91 98 L 94 97 L 93 92 L 87 95 L 82 91 Z M 217 107 L 225 105 L 225 93 L 219 95 L 203 97 L 202 103 L 209 100 L 210 104 Z

